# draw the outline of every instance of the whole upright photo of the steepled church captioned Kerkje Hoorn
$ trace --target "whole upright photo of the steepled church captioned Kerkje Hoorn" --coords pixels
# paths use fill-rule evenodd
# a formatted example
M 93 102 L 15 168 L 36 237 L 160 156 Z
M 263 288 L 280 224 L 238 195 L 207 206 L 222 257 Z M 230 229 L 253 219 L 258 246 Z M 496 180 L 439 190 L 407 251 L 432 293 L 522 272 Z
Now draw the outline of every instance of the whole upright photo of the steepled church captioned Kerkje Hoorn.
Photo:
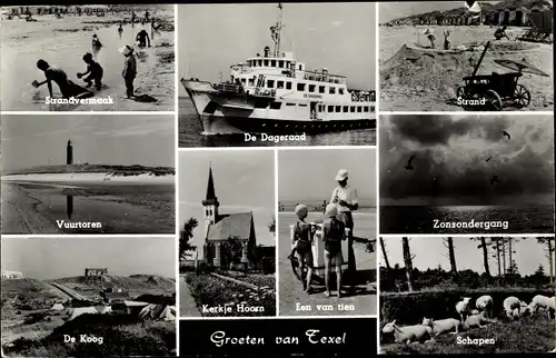
M 179 170 L 179 316 L 276 316 L 274 151 L 180 151 Z

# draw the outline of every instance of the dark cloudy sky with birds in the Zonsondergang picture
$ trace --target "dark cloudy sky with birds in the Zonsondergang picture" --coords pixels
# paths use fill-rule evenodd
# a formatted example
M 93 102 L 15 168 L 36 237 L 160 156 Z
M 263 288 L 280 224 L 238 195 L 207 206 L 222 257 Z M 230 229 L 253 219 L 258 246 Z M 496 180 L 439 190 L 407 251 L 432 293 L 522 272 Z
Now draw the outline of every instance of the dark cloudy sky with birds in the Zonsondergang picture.
M 380 205 L 554 203 L 553 143 L 552 116 L 383 116 Z

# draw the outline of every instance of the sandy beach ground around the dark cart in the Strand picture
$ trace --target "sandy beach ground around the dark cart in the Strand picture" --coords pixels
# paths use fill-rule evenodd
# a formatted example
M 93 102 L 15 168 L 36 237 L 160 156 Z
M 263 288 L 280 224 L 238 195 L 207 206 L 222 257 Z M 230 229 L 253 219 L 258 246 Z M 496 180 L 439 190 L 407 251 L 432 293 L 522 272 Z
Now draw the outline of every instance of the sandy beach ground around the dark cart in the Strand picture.
M 439 56 L 433 51 L 427 52 L 427 54 L 433 56 L 423 56 L 425 52 L 406 51 L 399 53 L 399 58 L 395 57 L 404 46 L 410 49 L 427 46 L 428 40 L 423 34 L 425 29 L 424 26 L 380 26 L 381 110 L 464 110 L 455 102 L 456 91 L 459 86 L 464 84 L 463 78 L 473 74 L 474 64 L 480 58 L 481 47 L 476 51 L 447 56 Z M 503 110 L 552 111 L 554 109 L 553 47 L 550 43 L 516 41 L 516 37 L 525 33 L 528 28 L 508 28 L 506 33 L 510 41 L 494 41 L 493 34 L 496 28 L 488 26 L 430 26 L 430 29 L 437 34 L 439 47 L 445 29 L 450 30 L 451 48 L 485 44 L 487 41 L 492 41 L 477 74 L 514 72 L 495 63 L 495 59 L 525 60 L 549 74 L 549 77 L 539 77 L 524 73 L 519 79 L 519 84 L 526 87 L 530 92 L 530 105 L 526 108 L 507 106 Z M 391 59 L 393 57 L 395 58 Z

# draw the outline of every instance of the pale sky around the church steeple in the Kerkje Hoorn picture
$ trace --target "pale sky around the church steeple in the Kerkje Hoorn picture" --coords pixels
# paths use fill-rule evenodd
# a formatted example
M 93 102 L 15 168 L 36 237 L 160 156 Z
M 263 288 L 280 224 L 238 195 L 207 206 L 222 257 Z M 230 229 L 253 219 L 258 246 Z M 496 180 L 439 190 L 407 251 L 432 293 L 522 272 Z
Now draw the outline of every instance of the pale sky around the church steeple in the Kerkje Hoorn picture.
M 207 196 L 209 166 L 220 213 L 252 210 L 257 245 L 275 245 L 268 223 L 276 212 L 272 150 L 181 151 L 179 157 L 179 217 L 183 225 L 195 217 L 193 245 L 202 257 L 205 243 L 202 200 Z

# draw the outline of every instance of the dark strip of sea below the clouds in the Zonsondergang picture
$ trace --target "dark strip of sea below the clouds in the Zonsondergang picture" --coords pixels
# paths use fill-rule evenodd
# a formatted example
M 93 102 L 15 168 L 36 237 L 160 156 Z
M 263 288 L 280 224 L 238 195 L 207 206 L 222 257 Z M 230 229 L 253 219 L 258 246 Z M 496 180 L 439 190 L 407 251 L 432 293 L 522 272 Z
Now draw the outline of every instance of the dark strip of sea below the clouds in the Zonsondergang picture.
M 435 228 L 435 220 L 438 227 Z M 443 228 L 443 222 L 500 221 L 502 227 Z M 380 207 L 380 233 L 554 233 L 554 206 Z M 493 226 L 493 225 L 492 225 Z

